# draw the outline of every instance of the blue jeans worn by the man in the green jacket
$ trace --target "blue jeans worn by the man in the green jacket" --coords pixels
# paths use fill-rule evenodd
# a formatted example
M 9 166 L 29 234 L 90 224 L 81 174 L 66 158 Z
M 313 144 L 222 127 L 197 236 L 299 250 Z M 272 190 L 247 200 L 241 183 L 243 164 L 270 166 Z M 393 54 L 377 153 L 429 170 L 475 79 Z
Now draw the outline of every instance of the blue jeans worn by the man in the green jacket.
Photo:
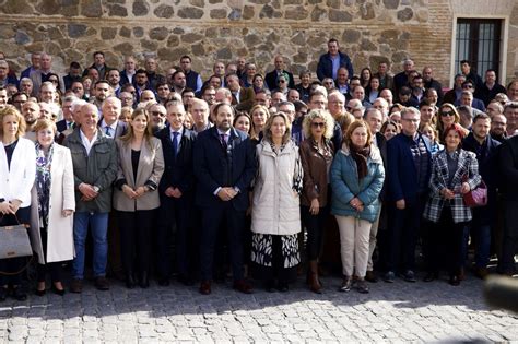
M 73 218 L 73 241 L 75 245 L 75 258 L 73 260 L 73 277 L 84 277 L 84 245 L 89 233 L 89 224 L 94 242 L 93 269 L 94 277 L 106 275 L 106 262 L 108 260 L 108 213 L 78 212 Z

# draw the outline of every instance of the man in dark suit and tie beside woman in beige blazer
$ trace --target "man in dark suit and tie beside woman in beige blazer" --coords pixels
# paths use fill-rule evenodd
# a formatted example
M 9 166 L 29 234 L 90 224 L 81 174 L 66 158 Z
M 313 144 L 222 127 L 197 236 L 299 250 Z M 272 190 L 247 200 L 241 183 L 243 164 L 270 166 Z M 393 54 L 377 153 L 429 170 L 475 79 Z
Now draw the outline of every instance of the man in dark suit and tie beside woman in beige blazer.
M 192 252 L 193 233 L 189 229 L 189 218 L 192 210 L 193 175 L 192 175 L 192 145 L 196 134 L 184 127 L 186 111 L 184 105 L 177 100 L 167 103 L 168 124 L 156 133 L 162 141 L 165 169 L 158 191 L 161 207 L 156 223 L 156 263 L 158 284 L 169 285 L 170 275 L 170 228 L 176 224 L 176 262 L 178 280 L 189 285 L 195 271 Z

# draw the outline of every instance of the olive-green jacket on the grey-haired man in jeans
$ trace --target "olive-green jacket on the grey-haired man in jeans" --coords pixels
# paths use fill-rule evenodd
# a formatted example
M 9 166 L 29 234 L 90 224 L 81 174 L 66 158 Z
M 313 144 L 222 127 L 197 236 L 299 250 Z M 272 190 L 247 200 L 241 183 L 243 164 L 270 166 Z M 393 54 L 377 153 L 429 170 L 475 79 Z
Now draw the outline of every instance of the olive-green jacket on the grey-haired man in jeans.
M 115 140 L 107 138 L 101 130 L 97 131 L 97 140 L 86 154 L 76 128 L 63 141 L 63 145 L 72 153 L 75 211 L 107 213 L 111 211 L 111 185 L 117 177 L 117 146 Z M 79 186 L 89 183 L 99 188 L 98 195 L 91 201 L 82 201 Z

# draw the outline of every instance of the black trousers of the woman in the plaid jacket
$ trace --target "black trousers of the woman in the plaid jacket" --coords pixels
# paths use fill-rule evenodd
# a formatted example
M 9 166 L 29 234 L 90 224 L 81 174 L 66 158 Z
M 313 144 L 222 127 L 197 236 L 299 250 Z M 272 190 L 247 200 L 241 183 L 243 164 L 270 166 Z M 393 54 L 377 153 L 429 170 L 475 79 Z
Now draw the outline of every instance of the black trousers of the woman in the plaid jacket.
M 439 272 L 444 266 L 448 273 L 458 276 L 460 274 L 463 257 L 463 230 L 468 223 L 455 223 L 451 217 L 451 209 L 444 207 L 439 222 L 428 223 L 427 235 L 427 269 L 428 272 Z

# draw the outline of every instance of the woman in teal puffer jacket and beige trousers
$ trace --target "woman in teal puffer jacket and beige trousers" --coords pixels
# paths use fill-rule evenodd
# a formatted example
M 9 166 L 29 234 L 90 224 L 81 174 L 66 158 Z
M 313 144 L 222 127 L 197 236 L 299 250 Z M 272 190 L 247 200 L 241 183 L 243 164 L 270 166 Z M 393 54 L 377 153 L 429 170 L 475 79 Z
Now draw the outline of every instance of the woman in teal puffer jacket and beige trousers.
M 379 211 L 378 197 L 385 179 L 381 155 L 372 141 L 368 126 L 363 120 L 354 121 L 331 165 L 331 213 L 340 229 L 342 292 L 351 290 L 355 268 L 357 290 L 368 293 L 365 274 L 370 226 Z

